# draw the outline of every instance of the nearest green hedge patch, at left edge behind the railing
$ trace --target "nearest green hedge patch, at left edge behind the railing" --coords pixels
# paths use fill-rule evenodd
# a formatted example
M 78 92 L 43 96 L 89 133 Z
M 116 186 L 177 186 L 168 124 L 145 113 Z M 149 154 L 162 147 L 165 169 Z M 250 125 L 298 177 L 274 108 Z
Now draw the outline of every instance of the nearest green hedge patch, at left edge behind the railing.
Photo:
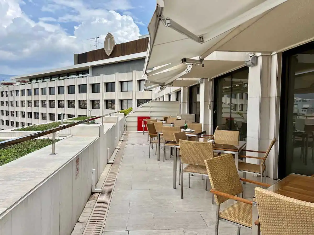
M 0 141 L 3 141 L 0 140 Z M 59 139 L 56 139 L 59 141 Z M 52 144 L 52 139 L 32 139 L 0 149 L 0 166 Z

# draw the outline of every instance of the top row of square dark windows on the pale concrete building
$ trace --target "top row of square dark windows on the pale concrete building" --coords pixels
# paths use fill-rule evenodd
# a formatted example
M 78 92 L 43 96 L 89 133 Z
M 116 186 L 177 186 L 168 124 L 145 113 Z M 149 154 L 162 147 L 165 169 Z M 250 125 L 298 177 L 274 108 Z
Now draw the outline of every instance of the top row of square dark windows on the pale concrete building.
M 143 91 L 144 89 L 144 81 L 140 80 L 139 83 L 139 91 Z M 39 88 L 34 88 L 34 95 L 39 96 Z M 58 94 L 64 94 L 64 86 L 57 87 Z M 19 96 L 20 90 L 15 90 L 15 96 Z M 55 87 L 48 87 L 49 95 L 55 95 Z M 106 92 L 115 92 L 116 91 L 116 83 L 115 82 L 108 82 L 106 83 Z M 132 81 L 123 81 L 121 82 L 121 91 L 133 91 L 133 82 Z M 87 93 L 87 84 L 78 85 L 78 93 Z M 92 84 L 92 93 L 100 93 L 100 83 Z M 68 86 L 68 94 L 75 94 L 75 86 L 70 85 Z M 14 91 L 10 91 L 10 96 L 13 97 Z M 27 89 L 27 95 L 32 95 L 32 89 Z M 47 95 L 47 88 L 41 88 L 41 95 Z M 4 91 L 1 91 L 1 97 L 4 96 Z M 8 97 L 8 91 L 5 91 L 5 96 Z M 21 96 L 25 96 L 25 90 L 21 90 Z

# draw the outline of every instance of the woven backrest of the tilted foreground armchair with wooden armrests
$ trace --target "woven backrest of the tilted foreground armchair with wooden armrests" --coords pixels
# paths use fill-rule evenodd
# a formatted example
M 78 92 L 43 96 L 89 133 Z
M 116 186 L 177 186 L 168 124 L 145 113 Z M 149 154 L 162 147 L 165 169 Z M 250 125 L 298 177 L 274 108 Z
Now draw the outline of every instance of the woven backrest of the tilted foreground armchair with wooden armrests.
M 205 165 L 210 183 L 214 190 L 233 196 L 243 192 L 243 187 L 232 154 L 224 154 L 207 159 L 205 160 Z M 217 205 L 228 200 L 228 198 L 216 194 L 214 194 L 214 197 Z

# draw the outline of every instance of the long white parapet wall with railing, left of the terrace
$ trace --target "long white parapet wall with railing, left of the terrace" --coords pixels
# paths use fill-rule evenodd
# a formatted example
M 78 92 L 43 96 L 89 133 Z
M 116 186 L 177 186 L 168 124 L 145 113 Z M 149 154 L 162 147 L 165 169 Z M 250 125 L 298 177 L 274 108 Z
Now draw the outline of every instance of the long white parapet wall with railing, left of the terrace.
M 124 118 L 73 127 L 71 137 L 0 166 L 1 235 L 70 235 L 120 139 Z

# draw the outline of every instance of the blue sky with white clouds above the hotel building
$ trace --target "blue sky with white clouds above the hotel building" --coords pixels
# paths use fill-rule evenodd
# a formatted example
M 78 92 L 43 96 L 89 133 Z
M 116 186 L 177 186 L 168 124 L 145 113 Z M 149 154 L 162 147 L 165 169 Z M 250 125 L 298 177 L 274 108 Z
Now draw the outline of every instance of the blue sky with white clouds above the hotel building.
M 88 39 L 111 32 L 116 43 L 148 34 L 156 0 L 0 0 L 0 74 L 73 65 L 95 50 Z M 99 44 L 102 47 L 103 44 Z

